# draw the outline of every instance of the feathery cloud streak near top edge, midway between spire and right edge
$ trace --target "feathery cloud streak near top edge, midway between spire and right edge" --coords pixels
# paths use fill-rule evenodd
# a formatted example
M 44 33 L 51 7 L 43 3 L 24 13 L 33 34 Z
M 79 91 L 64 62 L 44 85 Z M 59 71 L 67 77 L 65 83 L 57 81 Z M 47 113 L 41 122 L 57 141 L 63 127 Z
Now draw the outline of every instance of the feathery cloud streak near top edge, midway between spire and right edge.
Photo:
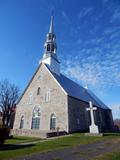
M 93 7 L 83 8 L 78 14 L 78 18 L 80 19 L 82 17 L 85 17 L 86 15 L 89 15 L 90 13 L 92 13 L 93 9 Z

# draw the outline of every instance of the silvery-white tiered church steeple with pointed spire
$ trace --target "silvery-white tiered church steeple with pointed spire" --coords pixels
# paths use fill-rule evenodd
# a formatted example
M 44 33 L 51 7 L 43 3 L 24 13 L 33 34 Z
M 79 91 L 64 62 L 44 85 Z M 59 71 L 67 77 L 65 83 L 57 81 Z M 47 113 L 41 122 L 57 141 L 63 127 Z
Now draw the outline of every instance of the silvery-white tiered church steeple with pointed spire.
M 56 35 L 54 34 L 53 16 L 51 16 L 49 32 L 46 35 L 44 44 L 45 52 L 43 54 L 42 62 L 45 63 L 51 72 L 60 75 L 60 62 L 57 58 L 57 44 Z

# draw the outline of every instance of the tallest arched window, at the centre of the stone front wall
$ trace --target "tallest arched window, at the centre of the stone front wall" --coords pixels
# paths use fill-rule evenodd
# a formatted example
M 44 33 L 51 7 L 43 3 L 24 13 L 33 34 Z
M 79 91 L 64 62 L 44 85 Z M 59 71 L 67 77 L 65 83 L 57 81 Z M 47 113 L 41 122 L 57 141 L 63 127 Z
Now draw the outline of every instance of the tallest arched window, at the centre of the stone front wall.
M 40 128 L 40 113 L 40 108 L 36 106 L 33 110 L 31 129 Z

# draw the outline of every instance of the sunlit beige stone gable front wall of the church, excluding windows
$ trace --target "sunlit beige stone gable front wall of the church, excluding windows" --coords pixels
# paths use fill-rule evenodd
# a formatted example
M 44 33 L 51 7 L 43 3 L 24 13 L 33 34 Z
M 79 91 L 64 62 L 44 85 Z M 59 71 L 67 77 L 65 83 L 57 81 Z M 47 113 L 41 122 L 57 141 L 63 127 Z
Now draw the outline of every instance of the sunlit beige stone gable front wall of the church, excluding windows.
M 40 95 L 37 89 L 40 87 Z M 46 92 L 50 92 L 50 100 L 45 100 Z M 33 94 L 32 103 L 29 104 L 29 95 Z M 57 126 L 60 131 L 68 132 L 68 108 L 67 95 L 59 84 L 48 72 L 44 64 L 38 69 L 29 87 L 25 91 L 19 104 L 17 105 L 14 130 L 19 129 L 21 116 L 24 116 L 24 129 L 31 129 L 32 114 L 35 106 L 40 106 L 40 130 L 49 132 L 50 116 L 54 113 L 57 117 Z

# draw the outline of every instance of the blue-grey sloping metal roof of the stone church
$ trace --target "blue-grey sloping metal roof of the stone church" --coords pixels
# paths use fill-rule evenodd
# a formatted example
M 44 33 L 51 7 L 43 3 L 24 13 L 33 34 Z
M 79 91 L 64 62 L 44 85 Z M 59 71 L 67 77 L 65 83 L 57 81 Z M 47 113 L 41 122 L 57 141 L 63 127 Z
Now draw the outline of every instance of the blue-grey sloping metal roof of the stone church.
M 49 69 L 49 67 L 47 66 Z M 50 71 L 50 69 L 49 69 Z M 51 72 L 51 71 L 50 71 Z M 102 109 L 109 109 L 92 91 L 89 89 L 85 89 L 84 87 L 78 85 L 71 79 L 66 76 L 60 74 L 57 75 L 51 72 L 55 79 L 59 82 L 62 88 L 67 92 L 67 94 L 71 97 L 77 98 L 79 100 L 88 102 L 92 101 L 92 103 Z

